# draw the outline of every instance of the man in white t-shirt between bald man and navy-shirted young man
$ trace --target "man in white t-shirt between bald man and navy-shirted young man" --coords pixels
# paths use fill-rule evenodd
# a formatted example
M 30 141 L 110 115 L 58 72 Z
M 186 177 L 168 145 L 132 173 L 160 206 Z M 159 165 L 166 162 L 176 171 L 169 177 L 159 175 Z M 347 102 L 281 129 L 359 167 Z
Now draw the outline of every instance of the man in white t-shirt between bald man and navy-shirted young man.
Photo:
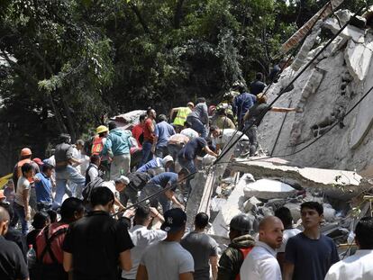
M 287 240 L 293 236 L 296 236 L 296 234 L 302 231 L 293 228 L 293 216 L 287 207 L 278 208 L 275 212 L 275 216 L 282 221 L 285 229 L 281 247 L 277 249 L 277 260 L 282 270 L 285 262 L 285 248 L 287 247 Z

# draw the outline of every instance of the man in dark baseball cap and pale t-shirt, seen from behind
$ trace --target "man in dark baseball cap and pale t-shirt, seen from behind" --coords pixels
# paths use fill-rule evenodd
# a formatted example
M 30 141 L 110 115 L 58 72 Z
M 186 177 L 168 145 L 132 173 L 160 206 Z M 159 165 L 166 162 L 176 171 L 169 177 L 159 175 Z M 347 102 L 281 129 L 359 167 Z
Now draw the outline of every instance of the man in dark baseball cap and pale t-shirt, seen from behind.
M 167 238 L 145 250 L 136 279 L 193 280 L 193 257 L 180 245 L 186 230 L 187 214 L 174 208 L 165 212 L 164 218 L 160 229 L 167 232 Z

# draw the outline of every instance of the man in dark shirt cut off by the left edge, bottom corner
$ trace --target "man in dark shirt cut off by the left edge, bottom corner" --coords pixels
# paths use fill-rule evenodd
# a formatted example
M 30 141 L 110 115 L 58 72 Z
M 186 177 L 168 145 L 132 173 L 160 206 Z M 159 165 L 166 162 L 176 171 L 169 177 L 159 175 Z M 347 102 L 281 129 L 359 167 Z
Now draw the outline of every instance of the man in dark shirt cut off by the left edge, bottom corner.
M 4 238 L 9 220 L 9 213 L 0 206 L 0 279 L 29 279 L 21 249 Z

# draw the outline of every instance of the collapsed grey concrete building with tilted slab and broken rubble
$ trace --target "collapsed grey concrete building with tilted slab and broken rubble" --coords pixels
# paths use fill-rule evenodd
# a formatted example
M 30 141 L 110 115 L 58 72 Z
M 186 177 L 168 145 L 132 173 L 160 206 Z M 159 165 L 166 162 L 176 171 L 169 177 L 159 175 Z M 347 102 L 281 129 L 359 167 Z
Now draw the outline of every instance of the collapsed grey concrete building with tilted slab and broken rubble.
M 367 194 L 373 186 L 373 93 L 348 116 L 346 112 L 373 86 L 373 10 L 353 21 L 351 17 L 348 10 L 335 12 L 333 18 L 317 17 L 296 58 L 268 87 L 269 103 L 305 70 L 276 103 L 296 107 L 296 113 L 278 117 L 268 112 L 259 126 L 261 150 L 272 157 L 232 158 L 230 151 L 221 160 L 224 164 L 207 167 L 192 180 L 190 228 L 197 212 L 207 212 L 209 233 L 226 244 L 228 224 L 238 213 L 250 216 L 255 234 L 259 221 L 281 206 L 290 209 L 301 227 L 300 204 L 317 201 L 324 208 L 323 233 L 342 248 L 359 218 L 371 214 Z M 347 27 L 314 59 L 345 23 Z M 289 154 L 293 156 L 286 157 Z M 225 168 L 230 176 L 223 176 Z

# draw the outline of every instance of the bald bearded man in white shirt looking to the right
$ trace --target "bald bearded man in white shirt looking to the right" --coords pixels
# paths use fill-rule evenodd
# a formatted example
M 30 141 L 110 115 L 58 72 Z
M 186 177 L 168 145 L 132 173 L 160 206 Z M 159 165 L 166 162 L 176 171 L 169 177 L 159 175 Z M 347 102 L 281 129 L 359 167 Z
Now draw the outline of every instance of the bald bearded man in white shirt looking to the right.
M 275 216 L 259 223 L 259 241 L 242 263 L 241 280 L 281 280 L 276 249 L 281 247 L 284 225 Z

